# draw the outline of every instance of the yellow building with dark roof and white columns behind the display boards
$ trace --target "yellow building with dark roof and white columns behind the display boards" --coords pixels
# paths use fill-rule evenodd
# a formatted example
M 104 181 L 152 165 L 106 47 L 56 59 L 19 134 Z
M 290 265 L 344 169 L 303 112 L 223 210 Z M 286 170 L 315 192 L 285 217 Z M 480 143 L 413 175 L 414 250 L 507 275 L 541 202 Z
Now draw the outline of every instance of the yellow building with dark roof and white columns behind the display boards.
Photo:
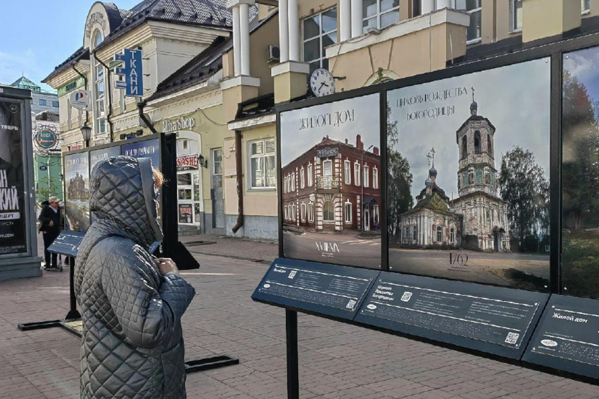
M 311 71 L 326 68 L 337 92 L 352 90 L 597 30 L 597 16 L 599 0 L 96 2 L 83 47 L 44 81 L 59 92 L 63 150 L 83 145 L 84 124 L 91 145 L 177 134 L 180 205 L 192 209 L 180 226 L 274 239 L 274 107 L 313 96 Z M 123 48 L 143 51 L 141 98 L 114 89 Z M 69 103 L 84 87 L 89 112 Z

